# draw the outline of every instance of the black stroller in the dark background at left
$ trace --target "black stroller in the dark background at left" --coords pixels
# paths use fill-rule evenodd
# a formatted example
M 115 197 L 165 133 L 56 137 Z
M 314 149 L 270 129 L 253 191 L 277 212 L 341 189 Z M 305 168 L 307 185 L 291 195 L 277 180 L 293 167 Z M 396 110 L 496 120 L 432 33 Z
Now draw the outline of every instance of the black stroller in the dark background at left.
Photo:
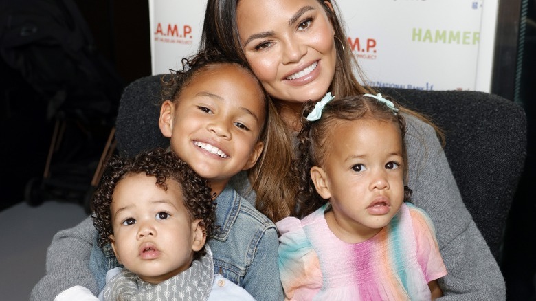
M 90 212 L 102 162 L 115 151 L 124 82 L 96 51 L 73 0 L 2 2 L 0 56 L 47 102 L 43 114 L 54 123 L 43 177 L 27 182 L 25 201 L 76 201 Z

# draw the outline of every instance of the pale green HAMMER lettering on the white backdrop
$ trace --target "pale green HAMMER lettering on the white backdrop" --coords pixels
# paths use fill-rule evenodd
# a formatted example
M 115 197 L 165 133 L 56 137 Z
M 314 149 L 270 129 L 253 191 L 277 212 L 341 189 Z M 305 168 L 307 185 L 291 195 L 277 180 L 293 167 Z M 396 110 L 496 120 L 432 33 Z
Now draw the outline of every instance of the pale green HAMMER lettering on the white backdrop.
M 480 32 L 413 28 L 412 41 L 436 44 L 478 45 L 478 42 L 480 42 Z

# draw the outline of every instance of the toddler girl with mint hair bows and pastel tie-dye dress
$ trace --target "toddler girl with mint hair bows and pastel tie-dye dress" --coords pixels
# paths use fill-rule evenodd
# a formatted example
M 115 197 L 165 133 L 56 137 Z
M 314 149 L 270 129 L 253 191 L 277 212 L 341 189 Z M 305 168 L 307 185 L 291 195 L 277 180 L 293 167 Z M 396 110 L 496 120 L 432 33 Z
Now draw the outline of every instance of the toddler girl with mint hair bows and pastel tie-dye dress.
M 293 300 L 430 300 L 447 274 L 434 226 L 408 201 L 405 120 L 381 94 L 304 105 L 298 215 L 276 223 Z

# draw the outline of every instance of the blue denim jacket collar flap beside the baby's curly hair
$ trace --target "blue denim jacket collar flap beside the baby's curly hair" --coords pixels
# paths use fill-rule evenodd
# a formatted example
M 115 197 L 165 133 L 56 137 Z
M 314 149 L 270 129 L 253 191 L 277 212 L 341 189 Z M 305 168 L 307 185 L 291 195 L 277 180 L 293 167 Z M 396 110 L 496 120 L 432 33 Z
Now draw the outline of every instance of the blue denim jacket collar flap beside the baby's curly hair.
M 218 229 L 214 231 L 212 238 L 225 241 L 238 216 L 241 198 L 231 186 L 225 186 L 216 197 L 216 204 L 216 227 Z

